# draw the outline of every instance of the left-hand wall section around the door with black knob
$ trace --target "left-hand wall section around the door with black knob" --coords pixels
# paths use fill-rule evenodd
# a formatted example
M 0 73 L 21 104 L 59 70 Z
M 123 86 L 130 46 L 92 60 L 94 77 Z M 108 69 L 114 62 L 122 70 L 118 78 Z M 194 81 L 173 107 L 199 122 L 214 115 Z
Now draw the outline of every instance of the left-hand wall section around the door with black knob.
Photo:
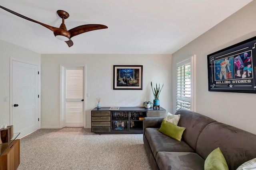
M 39 66 L 41 62 L 40 54 L 0 40 L 0 125 L 10 125 L 10 57 Z

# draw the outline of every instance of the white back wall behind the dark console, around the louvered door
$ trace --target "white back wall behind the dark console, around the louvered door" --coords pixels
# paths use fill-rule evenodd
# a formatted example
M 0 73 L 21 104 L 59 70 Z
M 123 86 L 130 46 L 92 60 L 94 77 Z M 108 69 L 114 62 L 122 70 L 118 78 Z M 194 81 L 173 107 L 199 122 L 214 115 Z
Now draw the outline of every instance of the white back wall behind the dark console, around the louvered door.
M 91 127 L 91 110 L 101 97 L 101 107 L 142 106 L 153 95 L 150 81 L 164 83 L 160 106 L 171 111 L 171 55 L 129 54 L 43 54 L 41 55 L 41 127 L 60 127 L 60 64 L 86 64 L 86 128 Z M 113 90 L 113 65 L 143 65 L 143 90 Z

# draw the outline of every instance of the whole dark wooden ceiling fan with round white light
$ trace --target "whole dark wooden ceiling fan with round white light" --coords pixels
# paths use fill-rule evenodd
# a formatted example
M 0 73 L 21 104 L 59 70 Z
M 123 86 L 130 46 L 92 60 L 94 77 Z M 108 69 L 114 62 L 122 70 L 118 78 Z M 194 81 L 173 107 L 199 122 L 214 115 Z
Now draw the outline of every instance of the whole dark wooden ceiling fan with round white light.
M 46 25 L 46 24 L 41 23 L 39 21 L 33 20 L 33 19 L 28 18 L 26 16 L 23 16 L 21 14 L 18 14 L 17 12 L 14 12 L 12 10 L 4 8 L 3 6 L 0 6 L 0 8 L 6 10 L 6 11 L 8 11 L 8 12 L 10 12 L 10 13 L 16 15 L 16 16 L 24 18 L 28 21 L 38 23 L 38 24 L 43 25 L 44 27 L 52 30 L 52 32 L 54 33 L 54 36 L 57 39 L 60 39 L 61 41 L 65 41 L 68 44 L 68 47 L 71 47 L 73 45 L 73 41 L 71 40 L 71 38 L 76 36 L 76 35 L 79 35 L 81 33 L 85 33 L 85 32 L 88 32 L 88 31 L 97 30 L 97 29 L 108 28 L 106 25 L 101 25 L 101 24 L 87 24 L 87 25 L 80 25 L 78 27 L 74 27 L 70 30 L 67 30 L 66 25 L 64 23 L 64 20 L 69 17 L 69 14 L 68 14 L 68 12 L 63 11 L 63 10 L 58 10 L 57 11 L 58 16 L 60 16 L 60 18 L 62 18 L 62 24 L 60 25 L 59 28 L 57 28 L 57 27 L 52 27 L 50 25 Z

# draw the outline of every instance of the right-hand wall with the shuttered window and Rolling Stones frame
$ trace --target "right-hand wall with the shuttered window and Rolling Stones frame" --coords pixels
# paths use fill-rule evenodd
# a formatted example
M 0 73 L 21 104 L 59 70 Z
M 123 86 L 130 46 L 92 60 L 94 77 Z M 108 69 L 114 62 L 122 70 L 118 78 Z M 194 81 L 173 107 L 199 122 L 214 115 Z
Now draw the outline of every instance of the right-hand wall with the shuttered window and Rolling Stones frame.
M 176 63 L 196 55 L 196 111 L 256 134 L 256 94 L 208 92 L 207 55 L 256 36 L 256 1 L 251 2 L 176 53 L 172 54 L 172 77 Z M 176 81 L 172 81 L 175 111 Z

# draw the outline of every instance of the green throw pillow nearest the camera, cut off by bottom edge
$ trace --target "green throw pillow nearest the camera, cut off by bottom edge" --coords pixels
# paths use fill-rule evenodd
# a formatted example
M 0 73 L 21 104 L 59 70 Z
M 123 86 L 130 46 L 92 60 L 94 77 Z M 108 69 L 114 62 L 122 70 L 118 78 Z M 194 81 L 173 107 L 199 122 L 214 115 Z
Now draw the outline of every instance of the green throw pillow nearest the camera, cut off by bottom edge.
M 228 164 L 219 147 L 207 156 L 204 161 L 204 170 L 228 170 Z

